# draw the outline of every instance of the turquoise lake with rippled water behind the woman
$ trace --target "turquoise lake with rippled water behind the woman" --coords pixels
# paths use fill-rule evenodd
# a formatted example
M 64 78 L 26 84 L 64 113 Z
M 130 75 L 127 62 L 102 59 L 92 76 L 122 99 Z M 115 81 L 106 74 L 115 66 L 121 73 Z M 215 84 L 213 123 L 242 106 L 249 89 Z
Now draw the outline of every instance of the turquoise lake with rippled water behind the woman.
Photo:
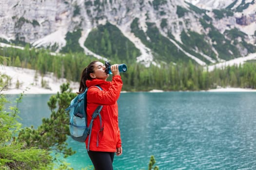
M 37 127 L 50 116 L 51 95 L 25 95 L 21 123 Z M 17 95 L 8 95 L 14 100 Z M 255 92 L 121 93 L 118 100 L 123 154 L 115 170 L 256 170 Z M 75 170 L 92 165 L 85 145 L 65 161 Z

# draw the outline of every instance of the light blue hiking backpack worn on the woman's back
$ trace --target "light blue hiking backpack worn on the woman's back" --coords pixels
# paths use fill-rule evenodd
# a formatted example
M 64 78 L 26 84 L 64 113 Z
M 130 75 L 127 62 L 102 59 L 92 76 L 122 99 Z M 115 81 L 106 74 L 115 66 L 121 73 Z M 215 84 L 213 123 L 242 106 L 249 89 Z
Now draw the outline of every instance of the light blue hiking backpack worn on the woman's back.
M 100 90 L 101 87 L 96 85 Z M 71 102 L 70 106 L 65 109 L 65 111 L 69 111 L 69 131 L 70 136 L 79 142 L 84 142 L 89 136 L 88 139 L 88 147 L 87 150 L 89 151 L 90 146 L 90 138 L 93 126 L 93 120 L 98 116 L 100 121 L 101 127 L 101 115 L 100 111 L 102 109 L 102 105 L 99 105 L 93 113 L 92 120 L 87 126 L 87 114 L 86 114 L 86 107 L 87 107 L 87 91 L 88 88 L 86 87 L 85 91 L 79 95 L 77 95 Z M 98 143 L 97 143 L 98 145 Z

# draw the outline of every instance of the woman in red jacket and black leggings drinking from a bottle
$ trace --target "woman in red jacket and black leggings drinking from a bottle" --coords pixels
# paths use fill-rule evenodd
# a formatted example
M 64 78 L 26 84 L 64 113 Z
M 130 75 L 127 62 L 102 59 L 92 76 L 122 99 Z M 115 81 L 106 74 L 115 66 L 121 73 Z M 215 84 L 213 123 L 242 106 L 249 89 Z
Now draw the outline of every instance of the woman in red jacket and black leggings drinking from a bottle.
M 86 87 L 87 91 L 87 122 L 92 119 L 92 114 L 98 105 L 103 105 L 100 112 L 100 121 L 94 119 L 90 151 L 88 155 L 95 167 L 95 170 L 113 170 L 114 154 L 122 154 L 120 130 L 118 127 L 118 98 L 122 88 L 122 80 L 118 65 L 112 65 L 112 82 L 106 81 L 109 74 L 105 72 L 106 67 L 99 61 L 93 61 L 83 71 L 80 80 L 79 93 Z M 100 90 L 95 85 L 102 88 Z M 85 141 L 88 148 L 88 137 Z

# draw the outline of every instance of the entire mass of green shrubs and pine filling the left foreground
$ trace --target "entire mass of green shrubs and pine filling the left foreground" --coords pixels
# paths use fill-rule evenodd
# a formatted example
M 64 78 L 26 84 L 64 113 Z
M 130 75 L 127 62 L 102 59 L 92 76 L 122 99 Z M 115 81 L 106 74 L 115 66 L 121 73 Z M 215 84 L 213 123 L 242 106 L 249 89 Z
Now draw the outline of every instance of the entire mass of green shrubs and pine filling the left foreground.
M 1 75 L 0 80 L 1 92 L 9 85 L 9 79 Z M 67 148 L 68 113 L 64 109 L 76 94 L 71 93 L 69 84 L 61 85 L 60 89 L 48 102 L 50 118 L 42 119 L 38 129 L 21 128 L 18 122 L 18 104 L 23 94 L 16 100 L 17 105 L 7 110 L 8 101 L 0 93 L 0 170 L 53 170 L 55 163 L 59 166 L 56 170 L 73 170 L 58 155 L 67 157 L 75 153 Z

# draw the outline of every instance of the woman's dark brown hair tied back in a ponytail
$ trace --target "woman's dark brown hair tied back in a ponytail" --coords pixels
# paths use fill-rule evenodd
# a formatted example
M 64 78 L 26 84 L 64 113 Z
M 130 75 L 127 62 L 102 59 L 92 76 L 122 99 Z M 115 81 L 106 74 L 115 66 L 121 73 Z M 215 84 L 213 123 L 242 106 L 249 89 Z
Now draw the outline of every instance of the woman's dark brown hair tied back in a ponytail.
M 92 80 L 90 73 L 94 73 L 94 64 L 98 61 L 91 62 L 86 68 L 83 69 L 80 79 L 79 93 L 84 92 L 86 88 L 86 80 Z

